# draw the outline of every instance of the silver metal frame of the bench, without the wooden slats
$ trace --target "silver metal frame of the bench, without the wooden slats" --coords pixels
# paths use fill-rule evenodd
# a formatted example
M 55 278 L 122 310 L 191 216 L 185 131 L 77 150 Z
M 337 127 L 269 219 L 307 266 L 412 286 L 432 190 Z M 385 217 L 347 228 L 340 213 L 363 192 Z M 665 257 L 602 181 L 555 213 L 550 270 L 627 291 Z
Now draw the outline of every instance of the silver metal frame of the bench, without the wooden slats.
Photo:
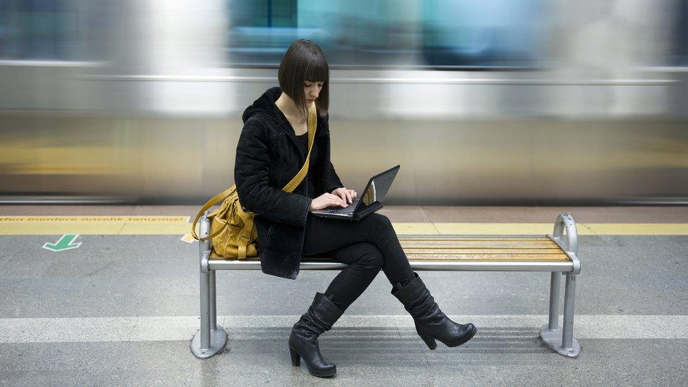
M 208 211 L 199 223 L 199 235 L 209 235 Z M 564 231 L 566 234 L 564 236 Z M 580 352 L 578 340 L 573 337 L 573 317 L 576 297 L 576 277 L 580 274 L 578 259 L 578 232 L 573 217 L 563 212 L 554 222 L 553 240 L 569 257 L 565 262 L 519 262 L 519 261 L 414 261 L 411 268 L 421 271 L 551 271 L 549 292 L 549 321 L 542 326 L 540 338 L 549 348 L 567 357 L 577 357 Z M 225 261 L 210 259 L 209 240 L 199 242 L 200 257 L 200 312 L 201 326 L 191 339 L 191 352 L 200 359 L 207 359 L 223 350 L 227 343 L 226 331 L 217 324 L 215 271 L 216 270 L 260 270 L 260 261 Z M 340 270 L 346 264 L 331 260 L 309 259 L 301 262 L 301 270 Z M 559 321 L 560 274 L 565 274 L 563 327 Z

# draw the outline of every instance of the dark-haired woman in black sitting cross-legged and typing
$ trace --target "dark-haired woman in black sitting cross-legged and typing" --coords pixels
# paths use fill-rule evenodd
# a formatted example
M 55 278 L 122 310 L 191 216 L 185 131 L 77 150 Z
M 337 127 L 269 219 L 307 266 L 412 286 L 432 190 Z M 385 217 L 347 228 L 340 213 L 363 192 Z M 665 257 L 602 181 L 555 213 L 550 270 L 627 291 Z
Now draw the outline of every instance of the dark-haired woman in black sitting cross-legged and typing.
M 234 180 L 242 206 L 256 214 L 262 271 L 295 279 L 302 256 L 332 257 L 348 264 L 325 293 L 294 324 L 289 337 L 292 364 L 300 359 L 315 376 L 332 376 L 336 366 L 322 357 L 318 336 L 328 331 L 382 269 L 391 293 L 415 321 L 431 350 L 435 340 L 455 347 L 476 333 L 439 309 L 415 274 L 389 219 L 371 214 L 361 221 L 312 216 L 309 211 L 346 207 L 357 192 L 341 183 L 330 161 L 329 70 L 314 42 L 301 39 L 287 50 L 278 70 L 279 87 L 267 90 L 243 113 Z M 316 104 L 317 132 L 307 176 L 293 192 L 281 190 L 307 154 L 307 110 Z

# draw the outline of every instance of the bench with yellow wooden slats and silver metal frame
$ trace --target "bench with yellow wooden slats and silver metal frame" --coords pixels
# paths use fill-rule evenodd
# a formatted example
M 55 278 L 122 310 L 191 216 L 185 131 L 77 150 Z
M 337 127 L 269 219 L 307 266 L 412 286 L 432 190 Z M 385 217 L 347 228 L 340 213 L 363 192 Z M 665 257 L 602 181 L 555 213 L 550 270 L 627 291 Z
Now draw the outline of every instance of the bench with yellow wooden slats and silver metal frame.
M 199 235 L 209 235 L 208 211 L 199 223 Z M 565 233 L 564 233 L 565 232 Z M 557 216 L 552 235 L 539 238 L 456 238 L 403 236 L 399 238 L 411 268 L 417 271 L 550 271 L 549 321 L 540 338 L 561 355 L 577 357 L 573 338 L 576 276 L 580 273 L 578 233 L 573 217 Z M 199 242 L 201 326 L 191 339 L 191 352 L 206 359 L 223 350 L 227 333 L 217 324 L 215 271 L 260 270 L 258 257 L 223 259 L 211 254 L 210 241 Z M 303 258 L 301 270 L 340 270 L 345 264 L 330 258 Z M 563 326 L 558 328 L 560 274 L 565 274 Z

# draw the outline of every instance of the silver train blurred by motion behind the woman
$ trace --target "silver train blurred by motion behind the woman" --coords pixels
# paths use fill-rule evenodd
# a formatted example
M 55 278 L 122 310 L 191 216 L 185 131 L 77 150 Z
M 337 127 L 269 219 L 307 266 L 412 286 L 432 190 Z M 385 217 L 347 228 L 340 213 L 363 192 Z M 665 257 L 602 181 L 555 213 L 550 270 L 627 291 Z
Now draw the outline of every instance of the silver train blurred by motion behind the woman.
M 688 0 L 3 0 L 0 202 L 200 204 L 298 38 L 348 188 L 688 203 Z

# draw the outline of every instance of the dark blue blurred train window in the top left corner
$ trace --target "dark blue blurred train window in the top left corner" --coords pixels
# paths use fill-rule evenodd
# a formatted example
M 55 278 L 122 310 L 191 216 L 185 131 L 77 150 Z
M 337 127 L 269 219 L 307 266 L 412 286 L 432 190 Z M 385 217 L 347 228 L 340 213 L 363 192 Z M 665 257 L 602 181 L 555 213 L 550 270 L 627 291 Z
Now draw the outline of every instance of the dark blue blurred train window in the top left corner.
M 85 13 L 97 2 L 78 0 L 0 1 L 0 59 L 85 59 Z

